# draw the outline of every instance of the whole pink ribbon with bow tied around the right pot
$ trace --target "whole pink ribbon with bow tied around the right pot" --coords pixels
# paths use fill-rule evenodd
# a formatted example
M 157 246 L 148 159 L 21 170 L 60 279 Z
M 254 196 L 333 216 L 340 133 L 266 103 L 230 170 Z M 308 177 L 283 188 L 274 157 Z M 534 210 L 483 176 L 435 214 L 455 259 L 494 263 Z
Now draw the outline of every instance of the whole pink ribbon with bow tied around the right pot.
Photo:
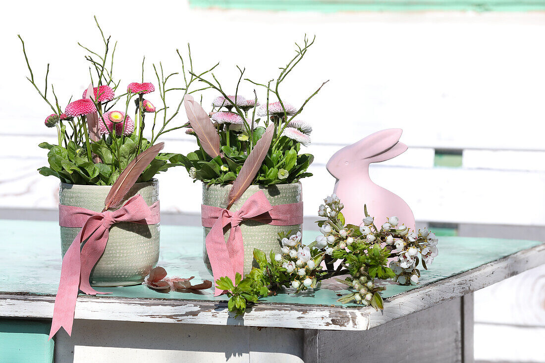
M 244 244 L 240 223 L 244 220 L 259 221 L 273 226 L 293 226 L 303 222 L 303 203 L 271 205 L 260 190 L 244 202 L 239 210 L 201 205 L 202 225 L 209 227 L 210 232 L 205 239 L 206 250 L 214 275 L 214 281 L 227 276 L 235 281 L 235 274 L 243 274 Z M 223 228 L 231 225 L 227 243 L 223 237 Z M 222 290 L 216 288 L 214 296 L 221 295 Z

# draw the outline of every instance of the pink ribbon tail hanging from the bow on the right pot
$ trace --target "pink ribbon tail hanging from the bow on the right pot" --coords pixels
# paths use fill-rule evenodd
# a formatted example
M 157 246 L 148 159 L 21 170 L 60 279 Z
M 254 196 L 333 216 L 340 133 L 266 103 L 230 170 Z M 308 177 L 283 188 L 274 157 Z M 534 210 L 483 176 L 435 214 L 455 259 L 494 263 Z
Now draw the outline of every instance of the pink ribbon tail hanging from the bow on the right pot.
M 229 258 L 229 252 L 227 251 L 225 238 L 223 237 L 222 220 L 223 218 L 220 216 L 214 222 L 210 232 L 208 232 L 205 239 L 206 251 L 208 253 L 208 258 L 210 259 L 214 281 L 220 277 L 227 276 L 234 282 L 235 274 L 233 272 L 231 258 Z M 214 296 L 219 296 L 223 293 L 223 290 L 216 287 Z

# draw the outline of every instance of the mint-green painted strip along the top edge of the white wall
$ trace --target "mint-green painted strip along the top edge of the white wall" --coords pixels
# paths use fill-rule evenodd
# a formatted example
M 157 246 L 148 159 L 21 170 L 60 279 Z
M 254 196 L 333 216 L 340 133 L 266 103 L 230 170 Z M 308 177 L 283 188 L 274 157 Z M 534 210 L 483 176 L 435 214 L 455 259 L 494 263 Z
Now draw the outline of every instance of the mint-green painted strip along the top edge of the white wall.
M 535 11 L 545 10 L 542 0 L 189 0 L 193 8 L 320 11 Z

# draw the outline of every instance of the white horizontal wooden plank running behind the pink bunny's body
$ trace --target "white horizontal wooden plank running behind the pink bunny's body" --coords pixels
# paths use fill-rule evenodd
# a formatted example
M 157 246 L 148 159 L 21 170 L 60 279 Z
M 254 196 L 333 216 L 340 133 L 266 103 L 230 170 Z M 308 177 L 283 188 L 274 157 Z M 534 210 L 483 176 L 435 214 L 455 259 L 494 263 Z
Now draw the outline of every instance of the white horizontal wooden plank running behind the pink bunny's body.
M 2 160 L 11 172 L 0 175 L 0 208 L 57 208 L 58 180 L 40 176 L 35 170 L 43 162 L 36 160 Z M 304 213 L 315 216 L 335 180 L 323 165 L 309 171 L 314 176 L 302 180 Z M 545 205 L 534 202 L 545 200 L 545 172 L 372 165 L 370 173 L 375 183 L 401 196 L 419 221 L 545 225 Z M 201 183 L 193 183 L 184 168 L 161 173 L 158 179 L 161 210 L 200 213 Z

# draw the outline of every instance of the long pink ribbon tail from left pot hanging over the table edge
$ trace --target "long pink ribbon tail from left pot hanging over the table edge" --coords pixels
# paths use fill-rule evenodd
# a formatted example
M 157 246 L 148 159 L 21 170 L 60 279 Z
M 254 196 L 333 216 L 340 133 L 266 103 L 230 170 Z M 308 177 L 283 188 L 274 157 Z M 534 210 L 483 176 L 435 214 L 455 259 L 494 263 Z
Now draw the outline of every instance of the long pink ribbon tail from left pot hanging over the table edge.
M 72 334 L 72 324 L 74 323 L 74 312 L 76 310 L 77 292 L 80 282 L 81 233 L 82 231 L 77 234 L 63 257 L 59 288 L 55 297 L 53 320 L 49 332 L 50 339 L 60 328 L 64 328 L 68 335 Z

